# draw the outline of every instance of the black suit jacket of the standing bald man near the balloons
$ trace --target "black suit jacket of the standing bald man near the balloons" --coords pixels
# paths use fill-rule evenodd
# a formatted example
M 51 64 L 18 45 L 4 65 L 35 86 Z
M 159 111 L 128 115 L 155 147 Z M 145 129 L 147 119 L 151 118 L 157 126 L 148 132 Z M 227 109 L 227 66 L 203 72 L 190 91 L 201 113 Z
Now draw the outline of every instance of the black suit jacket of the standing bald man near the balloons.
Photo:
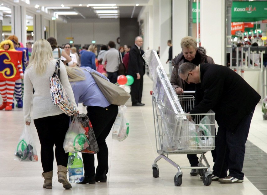
M 142 54 L 144 52 L 141 52 Z M 137 77 L 137 73 L 142 77 L 144 75 L 145 67 L 144 67 L 144 58 L 138 47 L 134 44 L 134 46 L 129 51 L 129 63 L 128 63 L 128 75 Z

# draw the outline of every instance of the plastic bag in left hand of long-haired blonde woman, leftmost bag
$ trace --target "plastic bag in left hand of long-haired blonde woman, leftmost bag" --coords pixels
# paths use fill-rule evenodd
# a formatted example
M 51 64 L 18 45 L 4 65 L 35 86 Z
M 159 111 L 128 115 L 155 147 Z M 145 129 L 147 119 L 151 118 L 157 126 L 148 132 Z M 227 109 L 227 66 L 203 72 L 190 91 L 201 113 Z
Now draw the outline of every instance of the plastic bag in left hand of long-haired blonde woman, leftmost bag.
M 38 156 L 33 134 L 29 125 L 24 125 L 15 151 L 15 160 L 24 162 L 37 162 Z

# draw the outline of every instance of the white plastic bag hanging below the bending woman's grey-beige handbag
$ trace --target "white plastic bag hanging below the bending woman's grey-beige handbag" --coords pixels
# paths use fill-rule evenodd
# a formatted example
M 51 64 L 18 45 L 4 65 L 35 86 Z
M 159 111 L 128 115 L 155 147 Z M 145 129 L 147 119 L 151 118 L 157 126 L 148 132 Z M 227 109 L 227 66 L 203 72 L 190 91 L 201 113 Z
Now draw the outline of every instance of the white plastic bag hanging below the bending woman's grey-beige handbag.
M 129 134 L 129 121 L 125 118 L 126 106 L 120 106 L 118 110 L 118 115 L 113 124 L 112 138 L 123 141 L 128 137 Z

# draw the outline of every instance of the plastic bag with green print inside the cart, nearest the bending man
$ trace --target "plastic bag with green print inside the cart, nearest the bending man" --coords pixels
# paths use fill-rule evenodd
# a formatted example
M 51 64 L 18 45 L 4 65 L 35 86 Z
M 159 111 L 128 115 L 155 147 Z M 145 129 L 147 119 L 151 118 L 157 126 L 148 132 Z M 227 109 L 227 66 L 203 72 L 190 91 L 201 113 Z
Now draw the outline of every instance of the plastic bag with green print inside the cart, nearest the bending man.
M 199 142 L 199 148 L 201 149 L 211 149 L 210 146 L 214 146 L 212 132 L 210 125 L 210 119 L 208 116 L 205 116 L 201 119 L 196 130 Z

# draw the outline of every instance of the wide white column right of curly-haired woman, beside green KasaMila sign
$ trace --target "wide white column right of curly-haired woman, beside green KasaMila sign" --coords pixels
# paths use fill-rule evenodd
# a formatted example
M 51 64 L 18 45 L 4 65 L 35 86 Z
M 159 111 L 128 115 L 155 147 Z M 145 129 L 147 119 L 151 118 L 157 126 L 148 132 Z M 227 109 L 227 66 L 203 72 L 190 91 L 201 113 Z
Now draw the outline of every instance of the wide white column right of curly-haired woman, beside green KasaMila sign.
M 216 64 L 225 65 L 225 1 L 200 2 L 200 42 L 207 56 Z

